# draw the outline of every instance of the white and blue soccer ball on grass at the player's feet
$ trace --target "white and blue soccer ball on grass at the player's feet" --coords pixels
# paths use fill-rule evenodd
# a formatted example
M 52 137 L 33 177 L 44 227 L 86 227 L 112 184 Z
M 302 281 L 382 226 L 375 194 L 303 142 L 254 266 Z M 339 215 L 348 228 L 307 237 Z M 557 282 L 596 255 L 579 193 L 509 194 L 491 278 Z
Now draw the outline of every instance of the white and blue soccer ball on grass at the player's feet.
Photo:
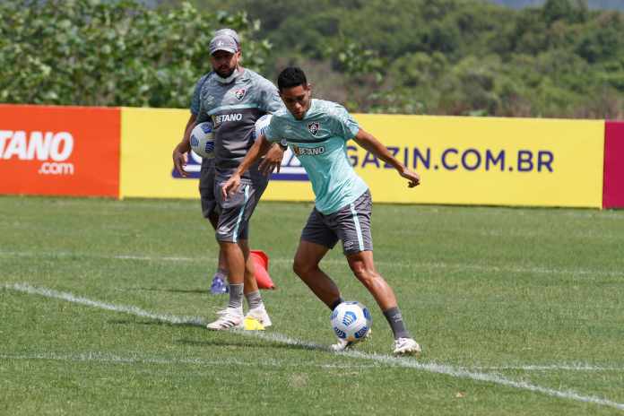
M 370 331 L 372 323 L 368 308 L 360 302 L 342 302 L 332 312 L 332 329 L 342 340 L 361 341 Z

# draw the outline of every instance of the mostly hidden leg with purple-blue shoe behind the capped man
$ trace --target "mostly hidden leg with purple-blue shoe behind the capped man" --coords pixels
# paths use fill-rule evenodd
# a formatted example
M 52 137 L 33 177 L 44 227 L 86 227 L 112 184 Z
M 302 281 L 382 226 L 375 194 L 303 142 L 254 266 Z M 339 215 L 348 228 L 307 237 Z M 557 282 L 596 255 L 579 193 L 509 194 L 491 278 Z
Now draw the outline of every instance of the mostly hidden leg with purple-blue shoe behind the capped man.
M 214 198 L 214 160 L 202 160 L 202 169 L 199 175 L 199 195 L 202 203 L 202 213 L 204 218 L 210 221 L 212 228 L 217 229 L 219 221 L 219 213 L 217 212 L 217 202 Z M 228 267 L 225 264 L 225 257 L 219 249 L 219 264 L 217 271 L 212 276 L 210 292 L 212 294 L 226 293 L 228 286 L 226 285 L 228 277 Z

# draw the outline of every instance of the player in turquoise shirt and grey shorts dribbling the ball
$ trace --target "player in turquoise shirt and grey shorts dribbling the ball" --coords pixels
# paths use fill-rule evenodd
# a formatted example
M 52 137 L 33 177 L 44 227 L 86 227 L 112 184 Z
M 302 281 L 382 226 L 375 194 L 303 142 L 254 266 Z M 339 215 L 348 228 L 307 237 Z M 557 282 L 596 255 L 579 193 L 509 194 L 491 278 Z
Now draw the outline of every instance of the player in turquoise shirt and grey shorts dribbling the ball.
M 403 322 L 394 291 L 375 268 L 370 232 L 371 196 L 368 186 L 347 158 L 347 141 L 354 139 L 368 152 L 392 165 L 408 180 L 409 187 L 420 184 L 419 175 L 403 166 L 373 135 L 361 129 L 341 105 L 311 99 L 311 87 L 300 68 L 284 69 L 278 78 L 278 88 L 285 108 L 273 115 L 264 135 L 222 186 L 221 197 L 237 192 L 241 175 L 266 152 L 271 142 L 286 140 L 306 169 L 316 195 L 315 207 L 301 233 L 294 272 L 318 299 L 334 310 L 343 299 L 319 263 L 341 239 L 351 271 L 375 298 L 392 329 L 394 354 L 420 352 L 420 345 Z M 350 346 L 351 342 L 339 340 L 332 349 L 343 351 Z

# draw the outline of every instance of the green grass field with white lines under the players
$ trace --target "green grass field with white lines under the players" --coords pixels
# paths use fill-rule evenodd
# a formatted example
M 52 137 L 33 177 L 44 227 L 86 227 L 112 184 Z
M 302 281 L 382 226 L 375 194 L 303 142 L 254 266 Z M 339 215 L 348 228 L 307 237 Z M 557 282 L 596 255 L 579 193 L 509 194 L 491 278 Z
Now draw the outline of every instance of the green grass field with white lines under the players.
M 0 414 L 624 413 L 624 212 L 376 205 L 377 268 L 424 348 L 395 359 L 340 249 L 323 266 L 374 334 L 327 350 L 290 269 L 310 209 L 252 221 L 274 325 L 213 333 L 197 201 L 0 197 Z

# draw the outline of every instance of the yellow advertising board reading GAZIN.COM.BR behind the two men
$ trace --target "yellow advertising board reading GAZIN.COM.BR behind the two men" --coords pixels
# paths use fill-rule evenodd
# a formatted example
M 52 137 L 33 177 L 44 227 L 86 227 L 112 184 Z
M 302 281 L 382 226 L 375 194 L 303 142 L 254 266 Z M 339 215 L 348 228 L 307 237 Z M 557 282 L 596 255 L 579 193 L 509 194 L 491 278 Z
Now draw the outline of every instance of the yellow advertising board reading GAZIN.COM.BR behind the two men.
M 198 198 L 201 160 L 177 178 L 171 152 L 188 110 L 122 109 L 121 196 Z M 347 152 L 373 200 L 406 204 L 602 206 L 602 120 L 355 115 L 422 185 L 350 142 Z M 313 201 L 299 161 L 286 152 L 263 196 Z

